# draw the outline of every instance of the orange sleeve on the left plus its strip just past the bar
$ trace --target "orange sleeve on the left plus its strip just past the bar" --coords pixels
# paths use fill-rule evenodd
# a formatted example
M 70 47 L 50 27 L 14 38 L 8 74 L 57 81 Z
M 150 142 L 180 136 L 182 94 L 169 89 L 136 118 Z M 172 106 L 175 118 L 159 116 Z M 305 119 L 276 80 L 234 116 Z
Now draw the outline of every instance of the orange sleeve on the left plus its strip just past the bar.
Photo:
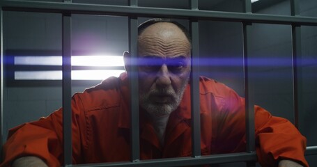
M 73 162 L 80 159 L 80 137 L 77 124 L 78 109 L 72 100 L 72 143 Z M 75 112 L 74 112 L 75 111 Z M 27 122 L 10 129 L 8 140 L 3 145 L 3 162 L 1 167 L 11 166 L 18 157 L 36 156 L 48 166 L 61 166 L 63 163 L 63 127 L 62 109 L 55 111 L 47 118 Z

